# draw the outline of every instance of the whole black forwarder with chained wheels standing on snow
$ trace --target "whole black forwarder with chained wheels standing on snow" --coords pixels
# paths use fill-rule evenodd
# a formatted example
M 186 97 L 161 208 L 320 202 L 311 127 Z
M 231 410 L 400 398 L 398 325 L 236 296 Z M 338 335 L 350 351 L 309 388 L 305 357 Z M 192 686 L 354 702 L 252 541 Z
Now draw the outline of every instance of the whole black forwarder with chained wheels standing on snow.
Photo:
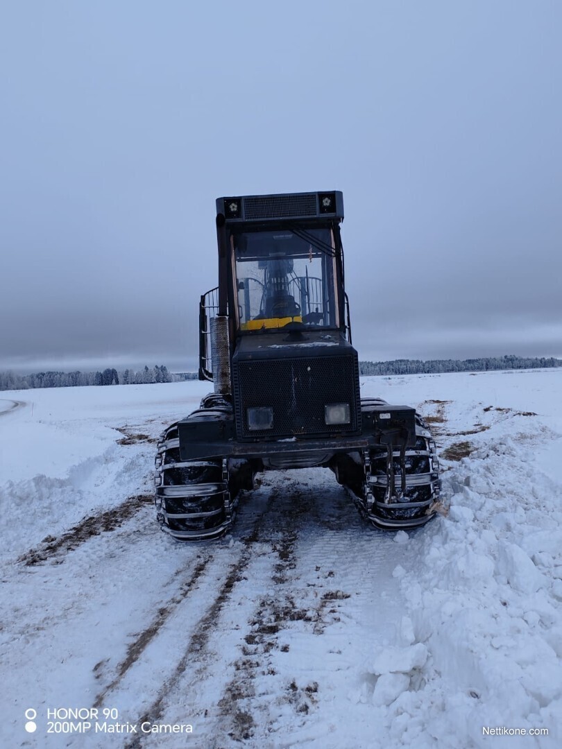
M 214 392 L 170 426 L 157 517 L 217 539 L 256 473 L 327 467 L 376 527 L 420 526 L 441 482 L 414 408 L 360 398 L 339 225 L 341 192 L 217 199 L 219 285 L 201 297 L 199 379 Z

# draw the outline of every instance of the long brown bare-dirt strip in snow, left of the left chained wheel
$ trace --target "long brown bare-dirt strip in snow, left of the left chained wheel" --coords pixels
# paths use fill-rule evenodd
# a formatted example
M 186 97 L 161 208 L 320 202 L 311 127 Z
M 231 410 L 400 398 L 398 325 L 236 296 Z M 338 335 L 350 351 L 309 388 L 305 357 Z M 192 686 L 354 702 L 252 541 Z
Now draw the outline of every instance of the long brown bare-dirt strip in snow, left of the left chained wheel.
M 40 564 L 40 562 L 46 562 L 59 552 L 67 554 L 69 551 L 74 551 L 76 547 L 91 539 L 92 536 L 111 533 L 112 530 L 120 527 L 147 504 L 153 502 L 152 494 L 136 494 L 134 497 L 127 497 L 117 507 L 100 512 L 99 515 L 90 515 L 88 518 L 83 518 L 79 524 L 67 530 L 62 536 L 46 536 L 40 545 L 22 554 L 17 561 L 31 567 Z M 64 561 L 64 557 L 60 561 Z

